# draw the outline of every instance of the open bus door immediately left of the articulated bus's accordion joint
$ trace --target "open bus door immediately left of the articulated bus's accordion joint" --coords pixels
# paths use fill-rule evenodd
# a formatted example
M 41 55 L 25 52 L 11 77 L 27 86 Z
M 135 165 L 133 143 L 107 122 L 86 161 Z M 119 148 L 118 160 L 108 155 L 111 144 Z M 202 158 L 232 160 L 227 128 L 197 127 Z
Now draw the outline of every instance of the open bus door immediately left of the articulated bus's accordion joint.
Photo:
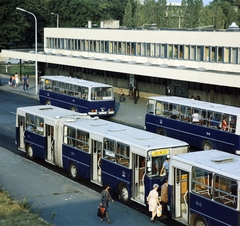
M 54 159 L 54 127 L 46 124 L 47 130 L 47 148 L 46 161 L 55 164 Z

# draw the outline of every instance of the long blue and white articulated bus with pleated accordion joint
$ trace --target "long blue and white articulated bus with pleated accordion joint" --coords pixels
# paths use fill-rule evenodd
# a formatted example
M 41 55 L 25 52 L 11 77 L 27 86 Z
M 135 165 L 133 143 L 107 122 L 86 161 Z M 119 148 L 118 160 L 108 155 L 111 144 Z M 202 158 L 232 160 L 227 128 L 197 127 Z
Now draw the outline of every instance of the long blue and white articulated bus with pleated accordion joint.
M 16 143 L 30 159 L 39 158 L 70 173 L 109 184 L 124 202 L 146 205 L 154 183 L 163 183 L 155 160 L 188 152 L 185 142 L 49 105 L 21 107 Z

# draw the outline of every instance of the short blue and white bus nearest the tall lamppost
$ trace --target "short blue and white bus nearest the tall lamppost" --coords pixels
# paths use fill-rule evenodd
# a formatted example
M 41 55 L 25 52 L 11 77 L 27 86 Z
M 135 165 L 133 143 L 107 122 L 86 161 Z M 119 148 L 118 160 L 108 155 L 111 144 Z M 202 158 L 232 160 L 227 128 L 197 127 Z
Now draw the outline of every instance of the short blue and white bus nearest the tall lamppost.
M 65 76 L 42 76 L 41 104 L 54 105 L 91 116 L 109 117 L 115 112 L 113 87 Z

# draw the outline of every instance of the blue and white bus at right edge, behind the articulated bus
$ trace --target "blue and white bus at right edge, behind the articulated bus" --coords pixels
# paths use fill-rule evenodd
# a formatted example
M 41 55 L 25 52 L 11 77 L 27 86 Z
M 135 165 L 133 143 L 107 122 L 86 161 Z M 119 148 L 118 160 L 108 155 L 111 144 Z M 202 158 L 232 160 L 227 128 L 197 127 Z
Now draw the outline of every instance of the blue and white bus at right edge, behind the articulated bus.
M 238 107 L 174 96 L 149 97 L 145 128 L 191 147 L 240 154 Z

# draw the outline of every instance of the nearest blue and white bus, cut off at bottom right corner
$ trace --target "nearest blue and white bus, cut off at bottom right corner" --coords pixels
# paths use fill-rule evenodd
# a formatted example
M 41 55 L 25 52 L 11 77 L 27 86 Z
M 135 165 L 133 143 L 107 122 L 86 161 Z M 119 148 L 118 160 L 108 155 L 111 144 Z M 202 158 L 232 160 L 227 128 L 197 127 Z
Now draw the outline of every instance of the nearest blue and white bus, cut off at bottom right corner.
M 192 226 L 240 225 L 240 156 L 218 150 L 171 157 L 171 217 Z

